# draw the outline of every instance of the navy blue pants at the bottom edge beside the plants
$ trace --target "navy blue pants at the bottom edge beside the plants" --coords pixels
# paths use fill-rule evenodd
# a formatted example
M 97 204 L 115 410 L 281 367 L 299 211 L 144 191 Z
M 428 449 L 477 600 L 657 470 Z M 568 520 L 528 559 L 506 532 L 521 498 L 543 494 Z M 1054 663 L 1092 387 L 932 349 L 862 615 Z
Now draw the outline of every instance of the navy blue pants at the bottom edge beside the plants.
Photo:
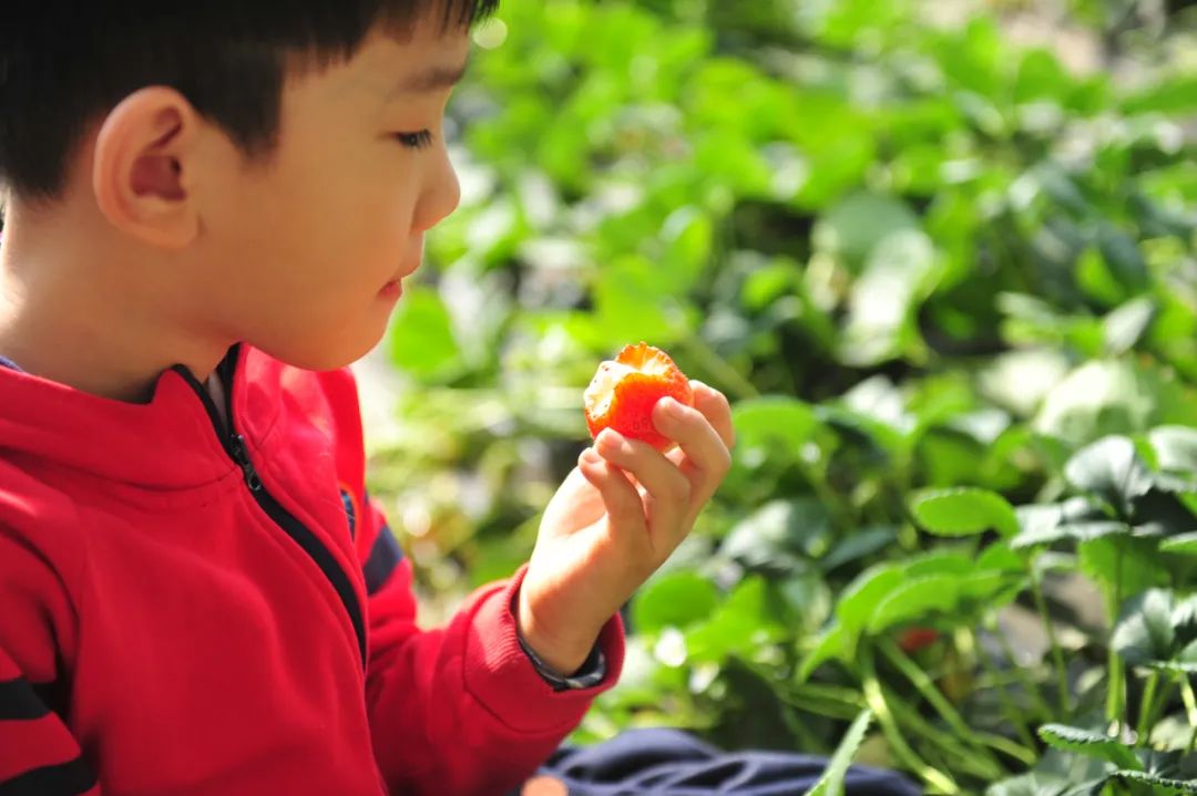
M 563 747 L 541 767 L 570 796 L 802 796 L 826 758 L 785 752 L 721 752 L 674 729 L 628 730 L 597 746 Z M 907 779 L 853 767 L 846 796 L 918 796 Z

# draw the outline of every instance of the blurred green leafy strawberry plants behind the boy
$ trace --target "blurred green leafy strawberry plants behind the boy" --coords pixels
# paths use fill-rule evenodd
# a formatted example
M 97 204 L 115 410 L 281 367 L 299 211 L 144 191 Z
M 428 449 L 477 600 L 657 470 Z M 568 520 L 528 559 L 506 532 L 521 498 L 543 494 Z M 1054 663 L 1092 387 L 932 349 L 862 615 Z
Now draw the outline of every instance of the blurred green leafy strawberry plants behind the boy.
M 859 759 L 931 792 L 1100 774 L 1049 721 L 1191 749 L 1197 656 L 1111 641 L 1192 587 L 1159 541 L 1197 529 L 1191 6 L 503 0 L 450 108 L 462 208 L 357 366 L 421 622 L 527 559 L 583 387 L 643 339 L 740 443 L 573 740 L 827 753 L 868 706 Z

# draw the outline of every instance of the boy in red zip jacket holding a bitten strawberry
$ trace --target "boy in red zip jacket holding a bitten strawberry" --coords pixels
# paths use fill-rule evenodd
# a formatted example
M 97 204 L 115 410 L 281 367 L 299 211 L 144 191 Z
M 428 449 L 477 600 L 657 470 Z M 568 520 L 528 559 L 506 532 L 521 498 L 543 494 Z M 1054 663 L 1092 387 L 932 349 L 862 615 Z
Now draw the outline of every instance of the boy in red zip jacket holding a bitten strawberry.
M 494 0 L 66 2 L 0 29 L 0 794 L 500 794 L 619 676 L 619 606 L 723 478 L 604 434 L 436 631 L 345 368 L 458 189 Z M 419 341 L 406 341 L 419 345 Z

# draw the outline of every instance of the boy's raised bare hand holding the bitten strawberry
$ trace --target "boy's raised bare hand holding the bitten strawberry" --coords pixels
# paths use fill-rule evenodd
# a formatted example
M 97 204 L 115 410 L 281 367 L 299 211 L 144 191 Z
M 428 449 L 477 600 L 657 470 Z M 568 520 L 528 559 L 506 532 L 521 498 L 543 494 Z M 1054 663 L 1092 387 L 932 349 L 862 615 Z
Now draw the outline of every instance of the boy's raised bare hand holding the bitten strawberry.
M 731 464 L 731 409 L 698 381 L 694 408 L 663 398 L 657 430 L 669 453 L 598 435 L 553 496 L 519 589 L 524 641 L 563 675 L 576 672 L 603 625 L 681 544 Z

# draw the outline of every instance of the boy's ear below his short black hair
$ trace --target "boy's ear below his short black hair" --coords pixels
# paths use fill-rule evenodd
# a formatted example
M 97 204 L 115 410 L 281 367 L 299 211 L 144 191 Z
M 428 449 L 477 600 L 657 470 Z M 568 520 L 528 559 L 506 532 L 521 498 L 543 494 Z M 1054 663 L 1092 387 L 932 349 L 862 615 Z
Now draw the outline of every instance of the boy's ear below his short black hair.
M 96 136 L 91 186 L 101 213 L 122 232 L 162 249 L 199 234 L 192 196 L 201 120 L 165 86 L 141 88 L 113 109 Z

